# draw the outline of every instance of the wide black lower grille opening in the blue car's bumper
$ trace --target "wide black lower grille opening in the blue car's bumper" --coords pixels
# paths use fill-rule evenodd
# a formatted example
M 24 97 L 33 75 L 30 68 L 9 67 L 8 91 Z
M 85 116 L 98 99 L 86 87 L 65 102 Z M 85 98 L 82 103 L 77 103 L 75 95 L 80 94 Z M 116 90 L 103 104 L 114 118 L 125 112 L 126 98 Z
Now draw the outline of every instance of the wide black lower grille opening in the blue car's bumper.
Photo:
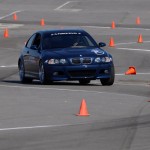
M 96 70 L 77 70 L 69 71 L 71 77 L 93 77 L 95 76 Z

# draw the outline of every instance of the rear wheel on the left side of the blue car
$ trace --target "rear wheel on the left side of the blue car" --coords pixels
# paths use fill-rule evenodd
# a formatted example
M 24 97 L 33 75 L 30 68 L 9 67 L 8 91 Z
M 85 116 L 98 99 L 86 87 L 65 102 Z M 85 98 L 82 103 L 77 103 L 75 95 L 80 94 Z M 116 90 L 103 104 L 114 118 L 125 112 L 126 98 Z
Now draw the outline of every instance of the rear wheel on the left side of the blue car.
M 19 77 L 21 83 L 32 83 L 33 79 L 25 77 L 25 68 L 24 68 L 24 63 L 22 61 L 19 62 L 18 67 L 19 67 Z

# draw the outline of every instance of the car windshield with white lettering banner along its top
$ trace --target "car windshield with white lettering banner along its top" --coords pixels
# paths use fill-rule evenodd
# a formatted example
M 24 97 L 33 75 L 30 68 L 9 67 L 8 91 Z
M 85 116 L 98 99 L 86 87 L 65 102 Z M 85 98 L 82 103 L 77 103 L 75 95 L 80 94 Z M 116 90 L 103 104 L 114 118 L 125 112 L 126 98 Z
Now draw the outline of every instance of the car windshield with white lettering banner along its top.
M 81 33 L 54 33 L 43 38 L 43 50 L 55 48 L 96 47 L 96 42 Z

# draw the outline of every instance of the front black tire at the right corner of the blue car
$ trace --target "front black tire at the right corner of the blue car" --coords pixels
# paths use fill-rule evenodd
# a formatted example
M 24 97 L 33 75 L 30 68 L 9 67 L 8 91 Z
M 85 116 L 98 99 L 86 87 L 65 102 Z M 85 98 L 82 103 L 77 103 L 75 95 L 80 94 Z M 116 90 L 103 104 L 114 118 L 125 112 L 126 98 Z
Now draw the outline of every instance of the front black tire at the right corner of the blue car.
M 110 86 L 114 84 L 115 81 L 115 69 L 114 66 L 111 68 L 111 77 L 106 79 L 100 79 L 103 86 Z

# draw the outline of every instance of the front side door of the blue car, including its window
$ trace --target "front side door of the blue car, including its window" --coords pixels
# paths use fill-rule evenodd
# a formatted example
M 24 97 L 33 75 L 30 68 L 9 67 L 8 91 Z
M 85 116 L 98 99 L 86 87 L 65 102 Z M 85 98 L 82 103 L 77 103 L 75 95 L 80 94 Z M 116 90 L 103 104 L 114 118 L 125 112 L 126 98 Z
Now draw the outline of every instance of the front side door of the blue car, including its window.
M 38 76 L 39 60 L 41 55 L 41 34 L 37 33 L 30 47 L 30 72 L 33 76 Z

